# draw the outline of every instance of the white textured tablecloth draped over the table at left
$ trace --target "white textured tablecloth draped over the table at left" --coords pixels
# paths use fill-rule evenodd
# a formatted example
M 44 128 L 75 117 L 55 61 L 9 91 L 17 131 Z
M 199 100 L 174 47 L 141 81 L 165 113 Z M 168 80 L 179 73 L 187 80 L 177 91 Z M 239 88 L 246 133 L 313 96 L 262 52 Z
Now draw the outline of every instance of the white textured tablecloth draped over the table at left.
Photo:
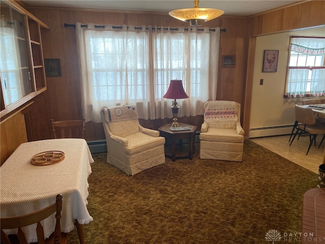
M 30 163 L 32 156 L 43 151 L 63 151 L 63 161 L 46 166 Z M 55 202 L 62 194 L 61 231 L 74 229 L 74 220 L 80 224 L 92 221 L 86 205 L 88 176 L 93 159 L 84 139 L 52 139 L 22 143 L 0 167 L 1 217 L 28 214 Z M 53 218 L 52 218 L 53 217 Z M 54 214 L 44 221 L 48 237 L 55 226 Z M 36 225 L 24 227 L 28 242 L 37 241 Z M 9 230 L 8 233 L 16 233 Z

